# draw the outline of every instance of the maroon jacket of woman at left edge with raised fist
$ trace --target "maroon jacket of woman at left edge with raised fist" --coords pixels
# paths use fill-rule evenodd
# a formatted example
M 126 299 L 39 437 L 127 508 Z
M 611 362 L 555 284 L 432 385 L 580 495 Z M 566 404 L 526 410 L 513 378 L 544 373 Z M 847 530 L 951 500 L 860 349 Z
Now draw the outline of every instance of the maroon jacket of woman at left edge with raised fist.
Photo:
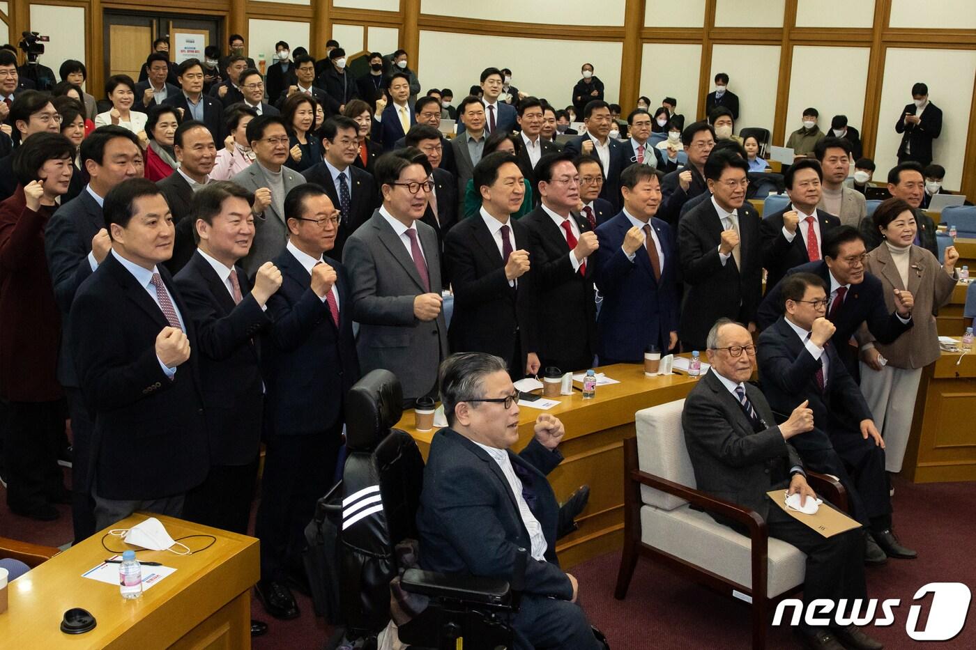
M 44 256 L 44 226 L 57 206 L 38 212 L 23 188 L 0 203 L 0 396 L 17 402 L 61 399 L 61 312 Z

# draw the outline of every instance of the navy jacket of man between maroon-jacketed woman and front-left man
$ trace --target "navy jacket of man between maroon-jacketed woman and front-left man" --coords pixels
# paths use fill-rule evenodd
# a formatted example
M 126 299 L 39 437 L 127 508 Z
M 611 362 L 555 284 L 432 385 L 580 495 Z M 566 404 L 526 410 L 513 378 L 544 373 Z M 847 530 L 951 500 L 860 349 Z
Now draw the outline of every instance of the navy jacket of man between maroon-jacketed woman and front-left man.
M 83 190 L 76 198 L 61 204 L 44 229 L 44 255 L 55 300 L 61 310 L 61 350 L 58 353 L 61 386 L 79 386 L 65 324 L 78 287 L 92 274 L 88 254 L 92 252 L 92 239 L 103 227 L 102 206 Z

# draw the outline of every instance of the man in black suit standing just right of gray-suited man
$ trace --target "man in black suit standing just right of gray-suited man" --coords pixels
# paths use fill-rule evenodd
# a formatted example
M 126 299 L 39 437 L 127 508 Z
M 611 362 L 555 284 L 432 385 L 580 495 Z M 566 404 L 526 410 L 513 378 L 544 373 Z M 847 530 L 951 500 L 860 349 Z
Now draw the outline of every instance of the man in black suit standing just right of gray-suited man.
M 529 232 L 511 219 L 524 198 L 518 160 L 502 151 L 474 167 L 480 213 L 451 228 L 444 264 L 454 288 L 451 349 L 501 356 L 515 380 L 539 371 L 536 275 Z

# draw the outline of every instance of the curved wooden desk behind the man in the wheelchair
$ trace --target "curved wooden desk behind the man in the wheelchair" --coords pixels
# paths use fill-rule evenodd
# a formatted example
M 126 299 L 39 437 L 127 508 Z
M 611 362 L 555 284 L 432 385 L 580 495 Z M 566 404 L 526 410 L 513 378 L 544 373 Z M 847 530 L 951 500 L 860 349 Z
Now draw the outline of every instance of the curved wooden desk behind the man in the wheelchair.
M 560 397 L 561 404 L 549 411 L 522 407 L 518 414 L 518 444 L 521 450 L 533 436 L 532 427 L 541 413 L 562 421 L 566 435 L 559 451 L 565 459 L 549 474 L 549 482 L 560 501 L 574 490 L 590 485 L 590 504 L 577 519 L 580 529 L 559 541 L 556 551 L 564 568 L 596 555 L 622 548 L 624 531 L 623 440 L 634 435 L 633 414 L 649 406 L 683 399 L 697 380 L 684 375 L 644 377 L 642 365 L 618 364 L 599 369 L 620 384 L 598 386 L 594 399 L 584 400 L 574 390 Z M 397 424 L 408 431 L 427 459 L 433 431 L 414 427 L 413 411 Z

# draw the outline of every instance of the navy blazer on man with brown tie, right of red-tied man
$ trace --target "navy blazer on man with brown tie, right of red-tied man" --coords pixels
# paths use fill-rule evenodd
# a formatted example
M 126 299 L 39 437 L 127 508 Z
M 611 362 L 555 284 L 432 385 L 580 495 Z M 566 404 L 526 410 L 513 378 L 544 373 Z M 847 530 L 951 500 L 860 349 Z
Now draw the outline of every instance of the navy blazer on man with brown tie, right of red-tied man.
M 631 227 L 627 215 L 621 212 L 596 228 L 596 286 L 603 295 L 596 319 L 601 363 L 603 358 L 638 362 L 651 344 L 667 354 L 669 335 L 677 331 L 680 264 L 674 236 L 660 219 L 652 218 L 650 225 L 664 250 L 660 280 L 654 279 L 646 250 L 638 248 L 633 262 L 627 259 L 622 248 Z

